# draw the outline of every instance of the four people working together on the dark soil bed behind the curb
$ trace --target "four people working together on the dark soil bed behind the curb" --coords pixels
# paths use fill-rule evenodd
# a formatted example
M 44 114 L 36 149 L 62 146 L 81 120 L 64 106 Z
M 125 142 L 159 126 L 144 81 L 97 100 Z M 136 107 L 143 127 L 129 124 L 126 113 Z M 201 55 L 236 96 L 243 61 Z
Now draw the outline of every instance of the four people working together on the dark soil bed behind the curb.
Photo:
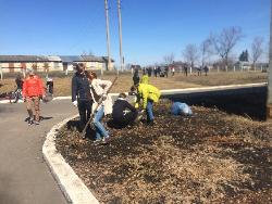
M 149 85 L 147 75 L 134 82 L 131 88 L 136 95 L 135 104 L 131 104 L 126 100 L 126 93 L 123 92 L 112 104 L 112 99 L 108 95 L 111 86 L 110 80 L 98 79 L 95 72 L 85 71 L 82 63 L 76 64 L 76 73 L 72 79 L 72 103 L 78 109 L 81 129 L 90 119 L 91 112 L 94 113 L 91 119 L 96 129 L 95 143 L 109 143 L 111 140 L 110 132 L 101 123 L 103 116 L 108 114 L 111 114 L 113 124 L 125 127 L 138 120 L 146 111 L 146 124 L 153 125 L 153 103 L 159 101 L 160 90 Z

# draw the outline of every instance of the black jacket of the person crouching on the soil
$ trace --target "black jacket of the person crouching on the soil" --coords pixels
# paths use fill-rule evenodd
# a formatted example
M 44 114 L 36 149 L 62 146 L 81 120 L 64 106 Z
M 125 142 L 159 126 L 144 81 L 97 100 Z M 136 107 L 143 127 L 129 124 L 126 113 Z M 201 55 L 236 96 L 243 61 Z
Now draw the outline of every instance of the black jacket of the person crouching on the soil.
M 112 118 L 114 120 L 122 120 L 125 117 L 125 111 L 126 110 L 131 110 L 132 112 L 137 111 L 126 100 L 118 99 L 113 104 Z

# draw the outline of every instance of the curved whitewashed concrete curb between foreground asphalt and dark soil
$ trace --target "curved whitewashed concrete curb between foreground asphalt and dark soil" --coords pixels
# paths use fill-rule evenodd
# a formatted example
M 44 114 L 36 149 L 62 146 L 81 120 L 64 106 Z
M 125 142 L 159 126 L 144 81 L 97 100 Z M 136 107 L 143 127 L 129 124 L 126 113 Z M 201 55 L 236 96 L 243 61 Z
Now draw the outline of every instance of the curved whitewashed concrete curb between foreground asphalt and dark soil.
M 75 174 L 72 167 L 65 162 L 63 156 L 57 152 L 55 149 L 55 136 L 59 129 L 69 120 L 77 116 L 78 115 L 69 117 L 52 127 L 52 129 L 47 133 L 46 141 L 42 145 L 42 154 L 69 203 L 99 204 L 98 200 L 92 195 L 82 179 Z

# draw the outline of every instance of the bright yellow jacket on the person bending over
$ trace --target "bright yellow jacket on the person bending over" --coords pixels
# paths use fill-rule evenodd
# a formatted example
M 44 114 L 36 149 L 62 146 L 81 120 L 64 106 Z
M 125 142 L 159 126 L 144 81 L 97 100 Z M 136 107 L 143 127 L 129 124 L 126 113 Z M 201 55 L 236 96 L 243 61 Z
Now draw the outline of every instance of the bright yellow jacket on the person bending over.
M 157 103 L 161 97 L 161 92 L 152 85 L 139 84 L 138 87 L 139 98 L 143 99 L 143 109 L 147 107 L 147 101 L 151 100 Z

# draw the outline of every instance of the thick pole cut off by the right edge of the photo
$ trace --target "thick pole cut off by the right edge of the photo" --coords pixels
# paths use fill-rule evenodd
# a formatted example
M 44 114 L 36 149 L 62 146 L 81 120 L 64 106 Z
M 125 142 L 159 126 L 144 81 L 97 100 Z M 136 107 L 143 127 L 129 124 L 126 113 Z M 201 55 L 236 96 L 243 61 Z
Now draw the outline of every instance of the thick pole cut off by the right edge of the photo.
M 272 0 L 270 1 L 270 48 L 269 48 L 269 85 L 267 101 L 267 119 L 272 119 Z

